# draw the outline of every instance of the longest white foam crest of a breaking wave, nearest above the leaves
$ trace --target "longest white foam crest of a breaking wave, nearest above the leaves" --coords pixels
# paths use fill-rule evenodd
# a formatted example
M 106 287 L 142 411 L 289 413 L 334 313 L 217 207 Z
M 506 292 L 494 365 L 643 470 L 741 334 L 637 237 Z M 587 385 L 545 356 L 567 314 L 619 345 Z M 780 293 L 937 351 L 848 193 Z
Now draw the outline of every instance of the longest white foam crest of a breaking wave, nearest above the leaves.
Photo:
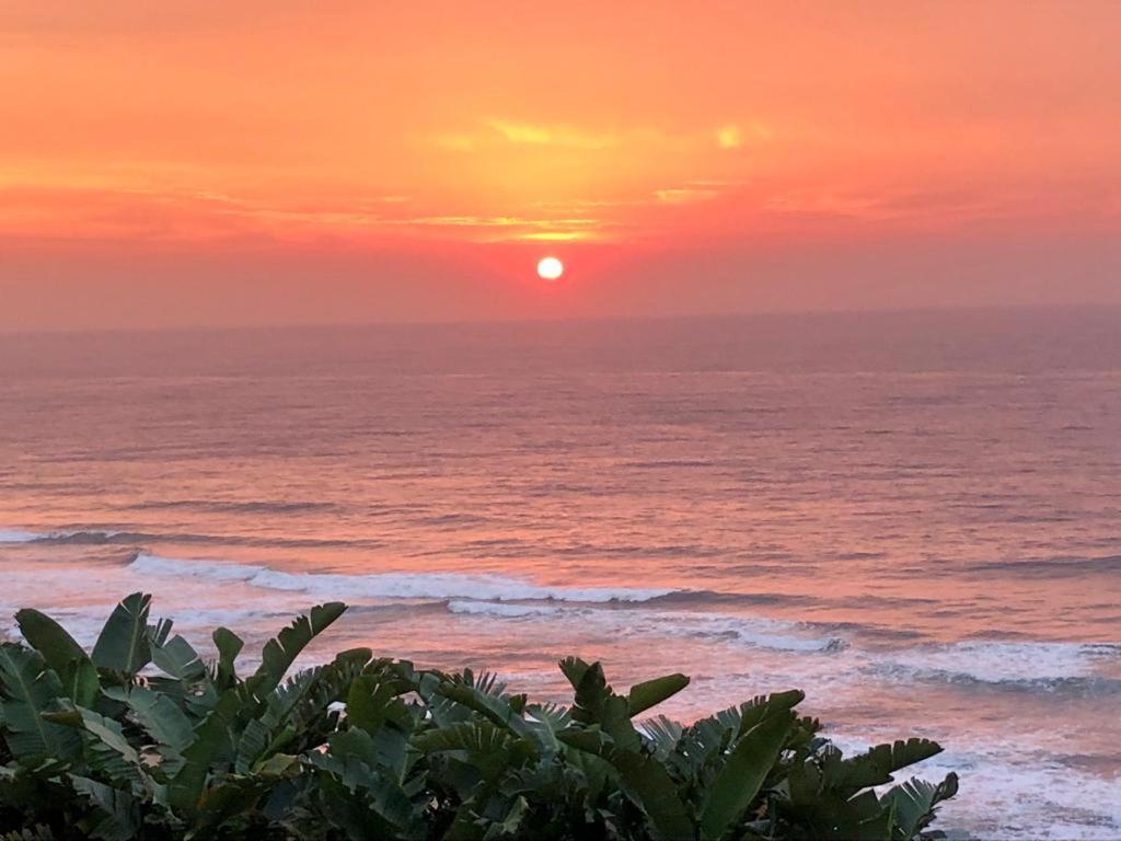
M 243 581 L 268 590 L 326 599 L 478 599 L 488 601 L 641 602 L 675 592 L 663 588 L 572 588 L 534 584 L 506 575 L 463 573 L 293 573 L 252 564 L 179 561 L 141 553 L 133 572 L 148 575 Z

